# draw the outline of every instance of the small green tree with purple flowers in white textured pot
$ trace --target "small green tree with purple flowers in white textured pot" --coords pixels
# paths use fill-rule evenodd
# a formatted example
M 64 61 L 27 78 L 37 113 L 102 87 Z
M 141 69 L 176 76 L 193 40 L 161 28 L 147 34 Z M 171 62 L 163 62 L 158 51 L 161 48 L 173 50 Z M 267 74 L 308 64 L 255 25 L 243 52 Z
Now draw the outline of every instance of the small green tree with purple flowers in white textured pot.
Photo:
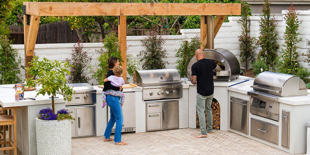
M 39 61 L 38 56 L 27 67 L 27 73 L 36 78 L 26 79 L 27 86 L 41 85 L 37 95 L 51 95 L 52 108 L 40 110 L 36 118 L 37 152 L 38 155 L 47 154 L 71 154 L 71 120 L 73 117 L 65 109 L 60 109 L 55 114 L 54 98 L 62 94 L 64 100 L 71 100 L 73 90 L 67 86 L 65 73 L 70 65 L 58 60 L 51 61 L 43 58 Z M 36 95 L 36 96 L 37 96 Z

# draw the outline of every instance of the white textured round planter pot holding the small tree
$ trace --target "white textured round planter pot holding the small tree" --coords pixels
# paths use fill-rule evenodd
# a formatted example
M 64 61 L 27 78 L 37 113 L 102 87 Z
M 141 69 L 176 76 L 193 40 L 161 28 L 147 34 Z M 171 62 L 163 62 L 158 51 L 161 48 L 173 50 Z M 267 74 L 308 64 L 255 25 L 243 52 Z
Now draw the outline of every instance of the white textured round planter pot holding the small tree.
M 71 120 L 36 118 L 38 155 L 71 155 Z

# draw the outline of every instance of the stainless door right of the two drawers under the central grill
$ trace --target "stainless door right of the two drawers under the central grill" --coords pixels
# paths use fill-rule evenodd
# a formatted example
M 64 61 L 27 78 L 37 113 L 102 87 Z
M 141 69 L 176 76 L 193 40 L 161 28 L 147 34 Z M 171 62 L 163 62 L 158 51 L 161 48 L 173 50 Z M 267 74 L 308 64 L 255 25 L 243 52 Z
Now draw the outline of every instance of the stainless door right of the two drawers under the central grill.
M 179 128 L 179 101 L 162 102 L 162 129 Z

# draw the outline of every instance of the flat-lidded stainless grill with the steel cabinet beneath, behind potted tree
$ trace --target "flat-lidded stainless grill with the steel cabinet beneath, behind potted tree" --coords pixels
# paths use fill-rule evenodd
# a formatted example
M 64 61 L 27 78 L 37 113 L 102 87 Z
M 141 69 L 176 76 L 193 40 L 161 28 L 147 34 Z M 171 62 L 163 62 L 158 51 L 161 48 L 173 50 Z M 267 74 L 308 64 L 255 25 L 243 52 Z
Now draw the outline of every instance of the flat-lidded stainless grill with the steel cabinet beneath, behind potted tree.
M 75 120 L 71 121 L 71 137 L 96 135 L 96 90 L 88 83 L 67 84 L 73 87 L 72 101 L 66 109 Z

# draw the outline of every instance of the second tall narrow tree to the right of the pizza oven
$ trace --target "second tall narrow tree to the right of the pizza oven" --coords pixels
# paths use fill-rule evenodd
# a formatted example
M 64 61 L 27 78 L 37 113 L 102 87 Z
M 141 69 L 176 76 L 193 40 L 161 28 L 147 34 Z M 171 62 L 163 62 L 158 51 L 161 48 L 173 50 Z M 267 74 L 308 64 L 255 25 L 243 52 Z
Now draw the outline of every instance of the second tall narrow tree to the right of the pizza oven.
M 260 49 L 257 58 L 265 61 L 268 68 L 271 69 L 277 62 L 277 50 L 279 49 L 277 21 L 274 15 L 270 14 L 270 2 L 264 0 L 262 5 L 261 21 L 259 21 L 260 32 L 257 41 Z

